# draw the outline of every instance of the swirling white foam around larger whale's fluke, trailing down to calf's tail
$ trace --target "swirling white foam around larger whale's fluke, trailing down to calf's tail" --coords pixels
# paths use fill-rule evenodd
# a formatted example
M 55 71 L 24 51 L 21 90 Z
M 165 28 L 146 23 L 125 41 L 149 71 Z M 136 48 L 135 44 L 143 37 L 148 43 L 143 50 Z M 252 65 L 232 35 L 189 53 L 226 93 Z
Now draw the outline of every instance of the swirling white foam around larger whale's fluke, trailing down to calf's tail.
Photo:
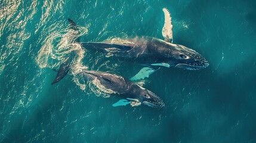
M 36 63 L 38 63 L 38 66 L 41 68 L 49 67 L 51 69 L 57 69 L 67 56 L 73 55 L 74 58 L 70 67 L 74 76 L 73 80 L 81 89 L 85 89 L 85 85 L 79 83 L 78 72 L 76 71 L 79 69 L 87 69 L 81 62 L 82 58 L 84 58 L 85 51 L 82 49 L 81 45 L 75 41 L 79 36 L 85 35 L 88 30 L 86 27 L 79 27 L 78 29 L 79 31 L 70 29 L 68 26 L 64 27 L 60 24 L 51 25 L 49 30 L 52 32 L 43 40 L 42 48 L 38 52 L 38 57 L 36 57 Z M 50 32 L 48 31 L 47 33 Z

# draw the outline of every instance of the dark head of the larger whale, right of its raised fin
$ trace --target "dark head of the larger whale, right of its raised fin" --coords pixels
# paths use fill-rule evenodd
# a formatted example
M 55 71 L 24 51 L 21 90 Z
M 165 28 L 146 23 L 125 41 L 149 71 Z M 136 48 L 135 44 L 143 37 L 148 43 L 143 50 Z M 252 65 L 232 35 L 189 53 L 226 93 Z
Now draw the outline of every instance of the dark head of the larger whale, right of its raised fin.
M 201 54 L 183 45 L 172 44 L 171 67 L 186 70 L 199 70 L 209 66 L 208 61 Z

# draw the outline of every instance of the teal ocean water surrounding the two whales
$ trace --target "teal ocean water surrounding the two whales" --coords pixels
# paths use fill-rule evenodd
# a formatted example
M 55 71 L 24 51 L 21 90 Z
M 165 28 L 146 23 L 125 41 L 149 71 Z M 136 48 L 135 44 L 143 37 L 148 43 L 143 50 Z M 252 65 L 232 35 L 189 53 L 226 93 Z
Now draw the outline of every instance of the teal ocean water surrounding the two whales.
M 163 108 L 112 107 L 76 70 L 130 78 L 141 66 L 81 50 L 76 70 L 51 85 L 70 43 L 152 36 L 172 15 L 174 43 L 209 62 L 162 68 L 140 84 Z M 256 142 L 256 2 L 253 0 L 0 0 L 0 142 Z

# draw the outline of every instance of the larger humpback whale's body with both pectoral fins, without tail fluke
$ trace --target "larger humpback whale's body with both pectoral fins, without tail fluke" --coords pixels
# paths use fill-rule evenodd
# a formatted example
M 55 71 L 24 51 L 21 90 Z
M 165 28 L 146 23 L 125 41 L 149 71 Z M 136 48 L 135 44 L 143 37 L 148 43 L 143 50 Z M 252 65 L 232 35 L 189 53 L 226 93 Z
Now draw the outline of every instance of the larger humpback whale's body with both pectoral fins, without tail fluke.
M 120 39 L 113 38 L 102 42 L 81 42 L 87 49 L 104 51 L 108 56 L 134 61 L 145 65 L 131 80 L 149 77 L 160 67 L 177 67 L 187 70 L 199 70 L 209 63 L 201 54 L 186 46 L 172 43 L 171 15 L 163 8 L 165 23 L 162 29 L 164 40 L 146 36 Z

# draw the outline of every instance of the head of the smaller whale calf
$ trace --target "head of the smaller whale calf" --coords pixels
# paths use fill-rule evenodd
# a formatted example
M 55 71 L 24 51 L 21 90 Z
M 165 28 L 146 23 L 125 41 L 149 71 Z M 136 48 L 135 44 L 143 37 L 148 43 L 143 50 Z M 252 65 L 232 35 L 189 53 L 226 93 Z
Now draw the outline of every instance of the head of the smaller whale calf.
M 144 89 L 139 86 L 136 92 L 136 98 L 127 98 L 131 100 L 131 105 L 148 105 L 153 108 L 161 108 L 164 107 L 164 102 L 153 92 L 149 91 L 148 89 Z

